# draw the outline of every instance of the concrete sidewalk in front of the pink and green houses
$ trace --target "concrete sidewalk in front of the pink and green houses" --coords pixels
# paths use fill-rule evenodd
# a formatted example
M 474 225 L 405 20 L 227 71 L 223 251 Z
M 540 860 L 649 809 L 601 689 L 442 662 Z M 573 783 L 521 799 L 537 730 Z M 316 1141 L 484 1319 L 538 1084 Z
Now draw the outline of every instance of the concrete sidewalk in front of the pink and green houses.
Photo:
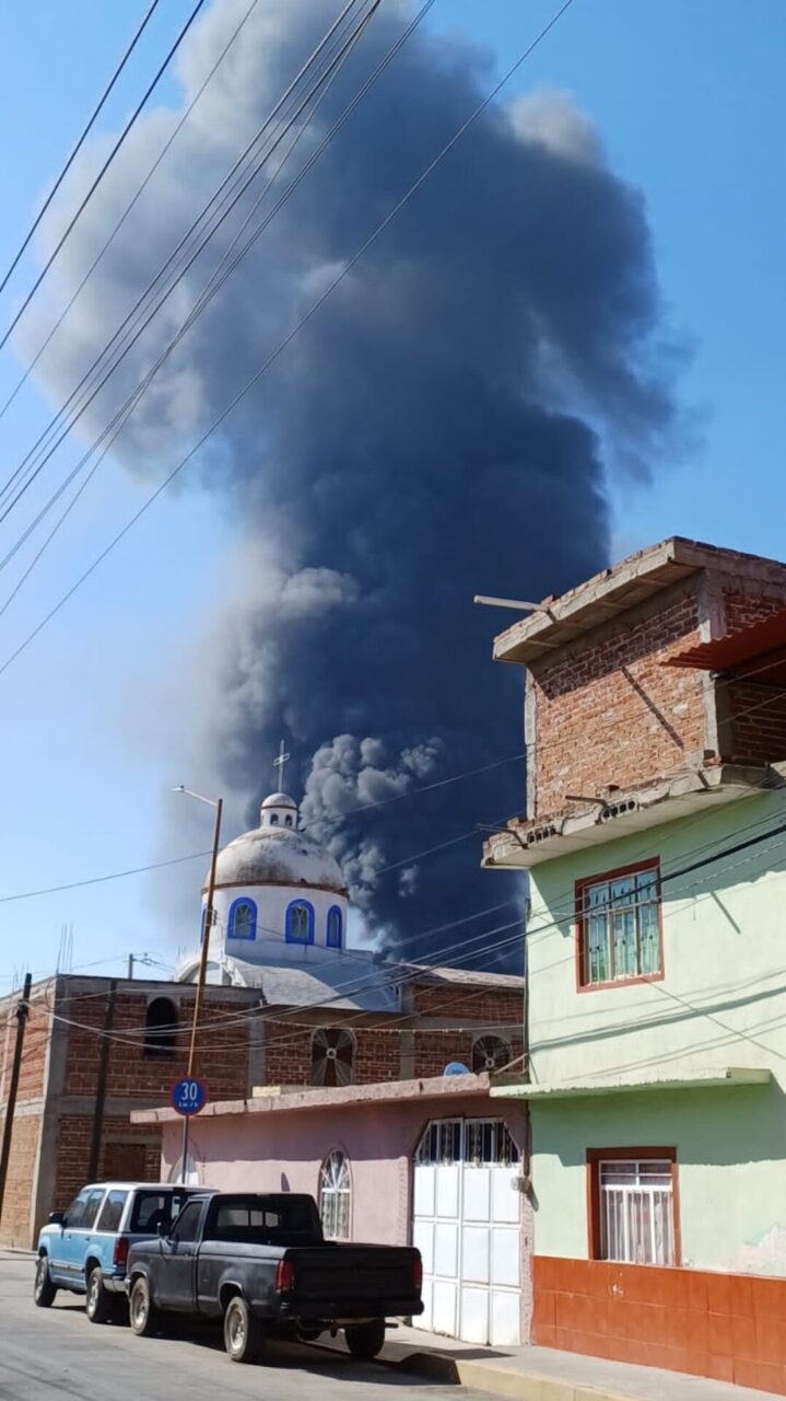
M 380 1362 L 515 1401 L 772 1401 L 769 1391 L 552 1348 L 476 1348 L 420 1328 L 389 1337 Z

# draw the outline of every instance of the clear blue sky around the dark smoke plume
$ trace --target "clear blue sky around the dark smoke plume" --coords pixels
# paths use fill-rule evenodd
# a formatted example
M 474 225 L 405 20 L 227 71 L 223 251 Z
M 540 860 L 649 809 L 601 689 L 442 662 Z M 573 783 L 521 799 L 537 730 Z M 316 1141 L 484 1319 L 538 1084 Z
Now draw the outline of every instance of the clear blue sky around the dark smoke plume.
M 543 0 L 436 0 L 429 22 L 484 43 L 503 71 L 552 7 Z M 141 0 L 7 7 L 0 43 L 3 268 L 141 8 Z M 112 129 L 190 0 L 166 0 L 161 8 L 109 104 Z M 681 402 L 695 415 L 694 447 L 659 468 L 655 485 L 611 483 L 618 555 L 670 534 L 785 553 L 785 46 L 780 0 L 755 7 L 741 0 L 575 0 L 509 88 L 566 88 L 596 123 L 614 168 L 642 189 L 669 319 L 691 346 Z M 176 101 L 176 90 L 164 87 L 161 97 Z M 35 261 L 28 261 L 15 293 L 34 272 Z M 13 304 L 0 303 L 3 324 Z M 3 401 L 18 374 L 14 354 L 0 353 Z M 35 388 L 27 388 L 0 422 L 4 474 L 46 412 Z M 98 474 L 29 590 L 0 616 L 0 664 L 141 503 L 141 492 L 110 462 Z M 210 503 L 189 495 L 162 499 L 0 675 L 0 898 L 194 850 L 199 814 L 183 820 L 178 843 L 168 828 L 164 845 L 162 803 L 178 803 L 169 789 L 194 779 L 173 768 L 168 736 L 178 716 L 162 709 L 176 693 L 194 618 L 221 590 L 231 549 L 228 527 Z M 0 607 L 4 597 L 0 591 Z M 510 752 L 517 743 L 510 736 Z M 204 846 L 208 832 L 206 808 Z M 196 915 L 200 862 L 193 869 Z M 134 877 L 0 902 L 0 991 L 15 971 L 53 967 L 63 923 L 74 927 L 76 965 L 95 961 L 97 971 L 120 971 L 129 951 L 144 950 L 173 958 L 150 884 Z

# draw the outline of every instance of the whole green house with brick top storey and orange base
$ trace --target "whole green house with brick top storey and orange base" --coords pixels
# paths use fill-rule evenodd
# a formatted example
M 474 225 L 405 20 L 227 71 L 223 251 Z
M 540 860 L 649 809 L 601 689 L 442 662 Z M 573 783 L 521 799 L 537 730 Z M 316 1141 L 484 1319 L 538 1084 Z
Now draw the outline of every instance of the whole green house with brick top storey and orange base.
M 526 668 L 534 1342 L 786 1394 L 786 566 L 642 551 Z

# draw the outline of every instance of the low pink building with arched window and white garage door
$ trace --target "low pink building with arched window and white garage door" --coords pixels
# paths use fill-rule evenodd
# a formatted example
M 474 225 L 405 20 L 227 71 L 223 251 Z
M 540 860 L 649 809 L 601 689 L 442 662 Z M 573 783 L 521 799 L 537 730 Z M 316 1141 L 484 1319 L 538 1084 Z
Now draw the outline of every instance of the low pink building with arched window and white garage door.
M 178 1167 L 182 1121 L 162 1129 L 162 1175 Z M 488 1098 L 487 1075 L 270 1093 L 210 1104 L 192 1121 L 201 1182 L 317 1198 L 334 1240 L 414 1244 L 420 1320 L 477 1344 L 529 1338 L 531 1208 L 526 1114 Z

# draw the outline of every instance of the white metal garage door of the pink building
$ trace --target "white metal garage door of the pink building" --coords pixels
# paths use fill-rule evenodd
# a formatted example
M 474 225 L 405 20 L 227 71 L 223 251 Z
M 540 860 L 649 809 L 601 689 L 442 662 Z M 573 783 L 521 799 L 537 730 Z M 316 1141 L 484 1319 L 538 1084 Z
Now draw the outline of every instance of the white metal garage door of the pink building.
M 519 1150 L 499 1119 L 436 1119 L 414 1164 L 417 1327 L 464 1342 L 520 1342 Z

